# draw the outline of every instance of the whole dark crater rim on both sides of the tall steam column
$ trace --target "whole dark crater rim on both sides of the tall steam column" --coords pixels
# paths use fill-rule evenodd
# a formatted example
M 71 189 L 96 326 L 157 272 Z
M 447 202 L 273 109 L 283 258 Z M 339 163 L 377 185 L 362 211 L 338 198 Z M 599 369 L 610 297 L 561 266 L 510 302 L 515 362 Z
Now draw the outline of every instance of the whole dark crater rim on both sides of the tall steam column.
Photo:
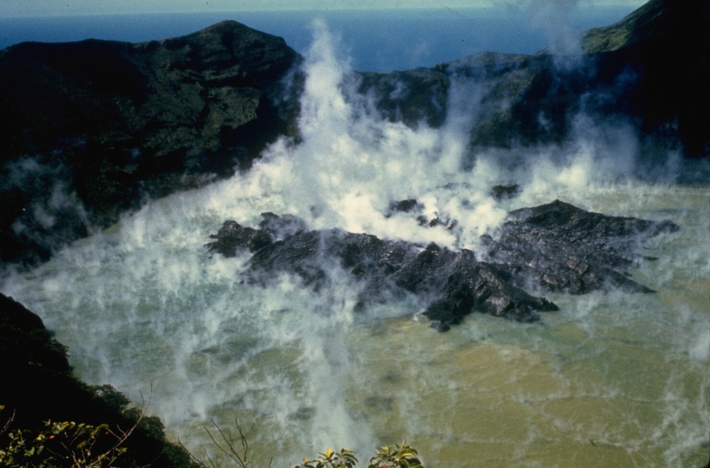
M 486 52 L 361 73 L 360 91 L 384 118 L 438 127 L 452 79 L 481 85 L 471 160 L 485 147 L 564 144 L 580 115 L 629 128 L 650 165 L 669 149 L 706 158 L 708 11 L 706 0 L 651 0 L 589 31 L 580 57 Z M 47 260 L 150 197 L 249 169 L 279 135 L 297 144 L 301 61 L 235 21 L 147 43 L 0 51 L 0 262 Z

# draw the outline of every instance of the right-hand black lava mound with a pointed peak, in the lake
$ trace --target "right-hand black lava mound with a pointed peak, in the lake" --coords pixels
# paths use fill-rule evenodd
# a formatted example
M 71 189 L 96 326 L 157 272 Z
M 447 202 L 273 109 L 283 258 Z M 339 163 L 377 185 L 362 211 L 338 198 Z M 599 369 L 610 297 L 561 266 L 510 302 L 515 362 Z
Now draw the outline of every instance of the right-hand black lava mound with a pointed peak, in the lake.
M 606 216 L 555 200 L 510 213 L 496 240 L 486 236 L 488 260 L 504 264 L 518 284 L 586 294 L 613 288 L 653 292 L 628 277 L 640 241 L 678 226 L 670 221 Z

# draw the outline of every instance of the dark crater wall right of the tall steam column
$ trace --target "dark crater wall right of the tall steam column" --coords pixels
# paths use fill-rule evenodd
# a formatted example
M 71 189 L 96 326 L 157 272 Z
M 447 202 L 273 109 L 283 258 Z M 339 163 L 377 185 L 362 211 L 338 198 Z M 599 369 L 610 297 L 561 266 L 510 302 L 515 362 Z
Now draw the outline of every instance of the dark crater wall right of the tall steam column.
M 460 100 L 452 84 L 476 84 L 471 152 L 563 143 L 583 118 L 584 126 L 628 127 L 645 158 L 659 147 L 707 157 L 710 134 L 701 116 L 710 105 L 708 10 L 707 1 L 651 0 L 619 23 L 587 32 L 579 55 L 486 52 L 431 69 L 365 73 L 361 91 L 378 94 L 378 111 L 391 120 L 438 126 L 447 103 Z

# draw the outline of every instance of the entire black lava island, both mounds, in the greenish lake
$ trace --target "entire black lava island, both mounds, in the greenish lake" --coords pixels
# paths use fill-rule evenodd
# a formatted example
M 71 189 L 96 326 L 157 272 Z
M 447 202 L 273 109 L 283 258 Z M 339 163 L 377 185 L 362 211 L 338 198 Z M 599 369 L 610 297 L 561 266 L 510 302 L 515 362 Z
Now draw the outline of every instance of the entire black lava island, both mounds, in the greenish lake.
M 410 206 L 407 200 L 393 206 Z M 310 230 L 295 216 L 263 213 L 258 228 L 225 221 L 212 252 L 232 257 L 252 252 L 244 280 L 267 284 L 295 274 L 314 291 L 327 288 L 329 268 L 362 282 L 359 307 L 370 301 L 415 294 L 437 330 L 448 330 L 472 312 L 515 321 L 540 319 L 555 303 L 525 289 L 585 294 L 601 289 L 652 292 L 630 279 L 640 241 L 677 230 L 670 221 L 646 221 L 591 213 L 553 201 L 510 213 L 494 240 L 484 236 L 484 257 L 434 243 L 383 240 L 340 229 Z

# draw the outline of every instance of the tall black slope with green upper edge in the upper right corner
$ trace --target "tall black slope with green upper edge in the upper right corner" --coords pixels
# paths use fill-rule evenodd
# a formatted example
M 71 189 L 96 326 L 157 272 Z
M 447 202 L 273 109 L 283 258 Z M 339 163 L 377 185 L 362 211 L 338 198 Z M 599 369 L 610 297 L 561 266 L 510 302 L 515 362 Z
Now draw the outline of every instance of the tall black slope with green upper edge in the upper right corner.
M 618 95 L 640 129 L 677 138 L 686 155 L 707 157 L 710 133 L 710 4 L 707 0 L 652 0 L 622 21 L 584 35 L 584 51 L 599 64 L 604 84 L 633 74 Z

